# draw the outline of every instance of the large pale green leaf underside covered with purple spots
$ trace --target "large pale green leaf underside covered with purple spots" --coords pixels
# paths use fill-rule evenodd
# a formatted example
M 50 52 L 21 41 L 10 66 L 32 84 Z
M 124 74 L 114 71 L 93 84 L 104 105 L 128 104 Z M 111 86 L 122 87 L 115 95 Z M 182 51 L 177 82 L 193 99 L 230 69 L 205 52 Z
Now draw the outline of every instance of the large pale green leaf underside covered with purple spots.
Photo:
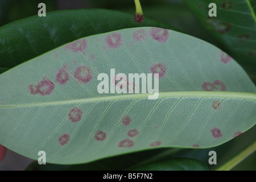
M 97 76 L 113 68 L 159 73 L 159 98 L 98 93 Z M 161 28 L 76 40 L 3 73 L 0 83 L 0 143 L 34 159 L 46 151 L 48 163 L 213 147 L 256 121 L 256 88 L 236 61 L 207 42 Z

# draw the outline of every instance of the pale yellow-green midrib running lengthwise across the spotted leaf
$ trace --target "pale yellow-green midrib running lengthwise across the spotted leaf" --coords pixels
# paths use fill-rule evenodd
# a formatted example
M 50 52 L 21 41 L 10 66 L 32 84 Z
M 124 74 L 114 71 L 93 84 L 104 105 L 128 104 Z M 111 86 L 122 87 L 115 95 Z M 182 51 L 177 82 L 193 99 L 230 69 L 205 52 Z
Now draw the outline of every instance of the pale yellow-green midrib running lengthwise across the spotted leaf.
M 2 107 L 30 107 L 30 106 L 49 106 L 49 105 L 65 105 L 65 104 L 77 104 L 85 102 L 98 102 L 98 101 L 113 101 L 113 100 L 127 100 L 127 99 L 140 99 L 147 98 L 151 96 L 150 93 L 140 93 L 140 94 L 126 94 L 118 96 L 108 96 L 108 97 L 94 97 L 94 98 L 83 98 L 79 100 L 66 100 L 66 101 L 52 101 L 52 102 L 40 102 L 40 103 L 27 103 L 18 105 L 1 105 Z M 248 92 L 162 92 L 159 93 L 158 98 L 168 98 L 168 97 L 225 97 L 225 98 L 242 98 L 248 100 L 256 101 L 256 93 Z

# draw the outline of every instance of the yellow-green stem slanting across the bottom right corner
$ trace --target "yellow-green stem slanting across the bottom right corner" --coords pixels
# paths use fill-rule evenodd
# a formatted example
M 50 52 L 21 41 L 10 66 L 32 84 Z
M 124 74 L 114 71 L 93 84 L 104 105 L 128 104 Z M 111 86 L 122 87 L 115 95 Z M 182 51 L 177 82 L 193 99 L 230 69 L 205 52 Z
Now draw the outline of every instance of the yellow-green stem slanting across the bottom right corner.
M 221 167 L 217 168 L 216 171 L 229 171 L 233 167 L 237 166 L 243 159 L 247 158 L 247 156 L 253 154 L 256 151 L 256 141 L 250 146 L 246 147 L 245 150 L 241 151 L 239 154 L 234 156 L 228 162 L 223 164 Z

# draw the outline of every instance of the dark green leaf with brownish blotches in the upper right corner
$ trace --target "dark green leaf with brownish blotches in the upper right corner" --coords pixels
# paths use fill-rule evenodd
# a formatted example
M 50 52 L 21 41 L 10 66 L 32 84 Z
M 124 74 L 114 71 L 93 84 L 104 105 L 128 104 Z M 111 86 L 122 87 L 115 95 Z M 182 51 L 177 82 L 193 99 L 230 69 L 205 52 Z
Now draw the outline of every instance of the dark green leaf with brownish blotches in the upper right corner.
M 212 0 L 184 1 L 256 82 L 256 1 L 214 1 L 217 17 L 208 15 Z

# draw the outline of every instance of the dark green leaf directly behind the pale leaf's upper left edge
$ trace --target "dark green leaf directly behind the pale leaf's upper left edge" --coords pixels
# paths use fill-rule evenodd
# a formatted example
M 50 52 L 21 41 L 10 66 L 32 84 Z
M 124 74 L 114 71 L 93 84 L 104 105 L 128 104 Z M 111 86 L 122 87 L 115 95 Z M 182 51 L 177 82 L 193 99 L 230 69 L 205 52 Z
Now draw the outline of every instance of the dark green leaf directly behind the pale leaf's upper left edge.
M 85 36 L 146 26 L 177 30 L 148 18 L 135 23 L 132 14 L 101 9 L 52 11 L 46 17 L 16 20 L 0 28 L 0 73 Z

